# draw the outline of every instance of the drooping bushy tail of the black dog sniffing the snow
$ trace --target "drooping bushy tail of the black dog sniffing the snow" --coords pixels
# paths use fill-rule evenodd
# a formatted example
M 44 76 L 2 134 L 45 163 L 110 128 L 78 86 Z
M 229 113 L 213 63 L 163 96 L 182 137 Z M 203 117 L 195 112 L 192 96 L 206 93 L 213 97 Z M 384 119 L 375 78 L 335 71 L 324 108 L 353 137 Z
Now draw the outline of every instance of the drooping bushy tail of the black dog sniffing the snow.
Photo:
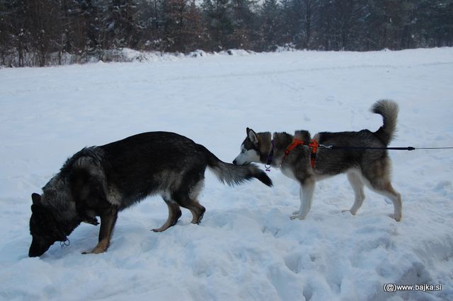
M 224 163 L 205 148 L 205 146 L 199 146 L 206 155 L 207 166 L 210 167 L 210 170 L 214 172 L 214 175 L 217 176 L 220 182 L 233 186 L 234 184 L 242 184 L 249 179 L 256 178 L 260 180 L 260 182 L 263 182 L 263 184 L 272 186 L 272 180 L 256 165 L 234 165 Z

